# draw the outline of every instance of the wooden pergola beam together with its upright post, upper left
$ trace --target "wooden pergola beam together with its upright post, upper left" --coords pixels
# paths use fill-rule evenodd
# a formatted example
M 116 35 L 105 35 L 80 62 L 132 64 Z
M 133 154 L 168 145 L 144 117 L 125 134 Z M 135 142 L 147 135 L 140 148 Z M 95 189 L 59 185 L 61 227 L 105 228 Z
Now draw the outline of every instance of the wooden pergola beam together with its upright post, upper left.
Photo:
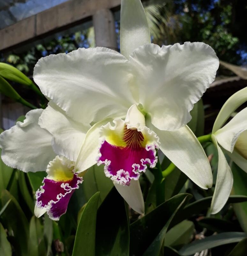
M 0 30 L 0 51 L 9 51 L 93 19 L 97 46 L 116 48 L 112 11 L 121 0 L 69 0 Z M 114 40 L 114 42 L 113 42 Z

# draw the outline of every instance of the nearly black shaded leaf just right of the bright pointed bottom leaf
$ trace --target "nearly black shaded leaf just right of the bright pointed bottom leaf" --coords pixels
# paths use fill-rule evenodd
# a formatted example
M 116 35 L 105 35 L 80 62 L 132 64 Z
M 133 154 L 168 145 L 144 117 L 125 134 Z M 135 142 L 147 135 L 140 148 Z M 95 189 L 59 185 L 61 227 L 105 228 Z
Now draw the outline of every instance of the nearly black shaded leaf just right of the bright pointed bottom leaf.
M 112 188 L 98 209 L 95 255 L 129 255 L 128 212 L 124 199 Z

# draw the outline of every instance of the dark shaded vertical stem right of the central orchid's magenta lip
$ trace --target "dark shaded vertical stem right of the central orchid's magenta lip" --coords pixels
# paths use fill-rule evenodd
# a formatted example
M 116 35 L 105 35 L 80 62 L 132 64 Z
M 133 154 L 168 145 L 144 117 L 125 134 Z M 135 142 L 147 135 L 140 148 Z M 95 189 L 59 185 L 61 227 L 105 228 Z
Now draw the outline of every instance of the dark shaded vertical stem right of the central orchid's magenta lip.
M 165 186 L 159 157 L 156 168 L 153 169 L 153 175 L 154 182 L 156 183 L 156 206 L 158 206 L 165 202 Z

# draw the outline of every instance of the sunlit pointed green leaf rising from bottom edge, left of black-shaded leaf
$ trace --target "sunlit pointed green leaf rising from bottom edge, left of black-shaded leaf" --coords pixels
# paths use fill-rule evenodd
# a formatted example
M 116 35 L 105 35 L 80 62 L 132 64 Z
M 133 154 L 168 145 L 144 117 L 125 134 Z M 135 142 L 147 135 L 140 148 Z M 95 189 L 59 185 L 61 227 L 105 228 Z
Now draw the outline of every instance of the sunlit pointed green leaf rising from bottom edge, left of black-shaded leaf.
M 95 255 L 95 231 L 99 196 L 100 192 L 96 192 L 82 212 L 76 230 L 72 256 Z

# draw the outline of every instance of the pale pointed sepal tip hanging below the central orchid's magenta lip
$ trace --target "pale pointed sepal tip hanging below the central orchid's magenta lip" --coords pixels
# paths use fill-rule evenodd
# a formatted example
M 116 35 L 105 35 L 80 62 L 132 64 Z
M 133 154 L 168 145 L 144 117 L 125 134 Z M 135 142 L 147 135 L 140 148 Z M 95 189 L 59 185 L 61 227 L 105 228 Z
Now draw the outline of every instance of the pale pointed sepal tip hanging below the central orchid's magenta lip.
M 144 199 L 139 180 L 131 180 L 130 185 L 120 185 L 113 182 L 118 193 L 124 198 L 129 206 L 136 212 L 143 214 L 145 211 Z

